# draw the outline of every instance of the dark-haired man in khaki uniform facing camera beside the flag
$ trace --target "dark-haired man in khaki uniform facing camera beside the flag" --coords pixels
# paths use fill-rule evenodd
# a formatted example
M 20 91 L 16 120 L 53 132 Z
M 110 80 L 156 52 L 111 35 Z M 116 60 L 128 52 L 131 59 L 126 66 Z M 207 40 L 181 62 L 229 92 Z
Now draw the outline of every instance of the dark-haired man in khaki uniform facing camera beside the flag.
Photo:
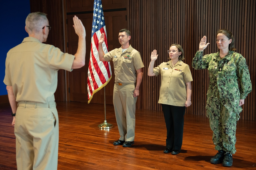
M 120 138 L 113 144 L 123 147 L 130 147 L 134 144 L 136 101 L 144 67 L 140 53 L 129 44 L 130 39 L 129 30 L 120 30 L 118 40 L 121 47 L 105 54 L 102 48 L 105 40 L 104 33 L 99 38 L 99 60 L 112 60 L 114 63 L 113 103 Z

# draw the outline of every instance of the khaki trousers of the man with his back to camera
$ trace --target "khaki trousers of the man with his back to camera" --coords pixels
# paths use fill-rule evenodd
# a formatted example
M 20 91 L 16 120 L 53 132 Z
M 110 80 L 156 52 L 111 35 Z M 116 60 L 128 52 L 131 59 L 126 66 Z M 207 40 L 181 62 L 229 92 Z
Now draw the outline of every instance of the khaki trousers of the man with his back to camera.
M 59 121 L 56 103 L 19 102 L 15 116 L 18 170 L 57 169 Z

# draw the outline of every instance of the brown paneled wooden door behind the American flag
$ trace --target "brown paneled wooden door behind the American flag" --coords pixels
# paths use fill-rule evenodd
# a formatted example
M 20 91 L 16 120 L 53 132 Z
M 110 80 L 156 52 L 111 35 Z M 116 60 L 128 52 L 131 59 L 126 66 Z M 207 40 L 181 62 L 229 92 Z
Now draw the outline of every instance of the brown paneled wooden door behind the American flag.
M 93 5 L 92 8 L 93 9 Z M 104 9 L 104 6 L 103 6 Z M 126 10 L 104 12 L 107 40 L 109 51 L 114 48 L 119 48 L 121 45 L 118 42 L 119 30 L 127 28 Z M 93 22 L 93 13 L 89 14 L 75 14 L 83 22 L 86 30 L 86 59 L 85 66 L 80 69 L 74 69 L 69 72 L 68 86 L 69 86 L 69 100 L 88 102 L 87 92 L 87 77 L 88 77 L 88 65 L 90 59 L 91 48 L 91 28 Z M 68 53 L 75 54 L 77 50 L 78 36 L 75 34 L 73 28 L 73 16 L 74 14 L 67 15 L 67 40 L 68 40 Z M 110 82 L 105 86 L 106 104 L 113 104 L 113 88 L 114 88 L 114 67 L 111 63 L 112 78 Z M 91 103 L 104 103 L 104 88 L 94 94 Z

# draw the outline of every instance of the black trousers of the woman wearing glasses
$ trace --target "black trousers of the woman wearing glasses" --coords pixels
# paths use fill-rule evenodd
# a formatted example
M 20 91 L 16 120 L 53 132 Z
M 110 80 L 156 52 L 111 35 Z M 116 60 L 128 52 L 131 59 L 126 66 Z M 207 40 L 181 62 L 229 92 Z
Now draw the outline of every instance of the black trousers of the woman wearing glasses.
M 162 104 L 167 129 L 166 148 L 181 149 L 185 106 Z

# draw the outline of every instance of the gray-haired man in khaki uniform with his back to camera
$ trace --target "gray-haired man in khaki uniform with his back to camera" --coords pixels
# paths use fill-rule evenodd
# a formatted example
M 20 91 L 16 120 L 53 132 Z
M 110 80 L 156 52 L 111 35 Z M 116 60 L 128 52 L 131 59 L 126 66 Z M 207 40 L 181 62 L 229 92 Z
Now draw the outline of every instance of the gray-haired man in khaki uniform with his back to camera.
M 85 65 L 85 28 L 76 16 L 73 21 L 78 35 L 75 55 L 43 44 L 51 27 L 42 12 L 27 16 L 29 37 L 7 53 L 4 83 L 12 108 L 18 170 L 57 169 L 59 121 L 54 93 L 58 70 Z

